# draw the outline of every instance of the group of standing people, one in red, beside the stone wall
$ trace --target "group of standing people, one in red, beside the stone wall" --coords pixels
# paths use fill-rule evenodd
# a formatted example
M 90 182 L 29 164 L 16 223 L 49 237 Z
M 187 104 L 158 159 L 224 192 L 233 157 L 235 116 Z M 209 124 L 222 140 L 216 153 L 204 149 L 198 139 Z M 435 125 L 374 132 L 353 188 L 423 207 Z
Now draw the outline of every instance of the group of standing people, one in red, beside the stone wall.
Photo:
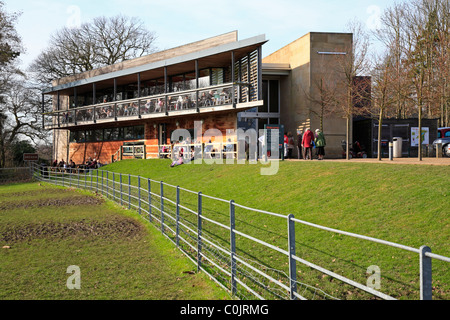
M 315 133 L 312 132 L 310 128 L 307 128 L 303 134 L 301 131 L 297 132 L 298 159 L 312 160 L 313 149 L 315 149 L 317 159 L 323 160 L 325 156 L 325 146 L 325 136 L 320 129 L 316 129 Z M 284 147 L 285 158 L 292 158 L 294 137 L 290 132 L 284 134 Z

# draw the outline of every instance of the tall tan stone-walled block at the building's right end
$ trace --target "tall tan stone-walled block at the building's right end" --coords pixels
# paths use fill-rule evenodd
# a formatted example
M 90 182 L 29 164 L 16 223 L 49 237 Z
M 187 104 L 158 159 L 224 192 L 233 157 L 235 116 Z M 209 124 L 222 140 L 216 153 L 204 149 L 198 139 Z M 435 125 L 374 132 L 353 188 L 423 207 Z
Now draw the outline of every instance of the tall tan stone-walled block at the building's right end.
M 315 130 L 321 125 L 320 83 L 336 86 L 343 75 L 342 56 L 318 52 L 346 52 L 352 47 L 352 34 L 308 33 L 263 59 L 263 63 L 290 64 L 291 74 L 281 77 L 280 121 L 287 132 Z M 342 93 L 342 89 L 341 89 Z M 328 108 L 323 116 L 327 157 L 342 156 L 341 141 L 346 137 L 346 121 L 340 110 Z

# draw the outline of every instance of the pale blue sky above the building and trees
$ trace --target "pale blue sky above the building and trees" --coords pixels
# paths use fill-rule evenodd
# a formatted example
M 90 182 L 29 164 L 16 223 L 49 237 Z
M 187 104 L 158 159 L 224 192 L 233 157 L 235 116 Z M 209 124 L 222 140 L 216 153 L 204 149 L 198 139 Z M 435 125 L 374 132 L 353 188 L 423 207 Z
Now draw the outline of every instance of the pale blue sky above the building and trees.
M 239 40 L 264 34 L 267 56 L 308 32 L 347 32 L 353 19 L 368 30 L 379 25 L 394 0 L 4 0 L 21 12 L 16 28 L 26 53 L 24 69 L 48 46 L 52 34 L 99 16 L 139 18 L 155 32 L 158 50 L 238 31 Z

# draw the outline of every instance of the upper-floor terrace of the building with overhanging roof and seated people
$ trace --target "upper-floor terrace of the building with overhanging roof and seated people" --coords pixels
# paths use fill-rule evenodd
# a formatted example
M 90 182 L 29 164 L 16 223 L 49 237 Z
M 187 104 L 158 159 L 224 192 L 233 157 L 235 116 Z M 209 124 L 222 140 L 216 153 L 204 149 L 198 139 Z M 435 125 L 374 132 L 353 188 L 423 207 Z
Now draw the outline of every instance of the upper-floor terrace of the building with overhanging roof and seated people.
M 118 64 L 72 81 L 57 81 L 43 92 L 53 96 L 51 112 L 44 113 L 42 106 L 44 125 L 72 129 L 257 107 L 263 103 L 261 48 L 265 42 L 264 36 L 257 36 L 219 44 L 211 41 L 200 50 L 188 45 L 153 54 L 157 55 L 153 59 L 150 55 L 148 63 L 136 59 L 133 65 L 130 60 L 126 68 Z

